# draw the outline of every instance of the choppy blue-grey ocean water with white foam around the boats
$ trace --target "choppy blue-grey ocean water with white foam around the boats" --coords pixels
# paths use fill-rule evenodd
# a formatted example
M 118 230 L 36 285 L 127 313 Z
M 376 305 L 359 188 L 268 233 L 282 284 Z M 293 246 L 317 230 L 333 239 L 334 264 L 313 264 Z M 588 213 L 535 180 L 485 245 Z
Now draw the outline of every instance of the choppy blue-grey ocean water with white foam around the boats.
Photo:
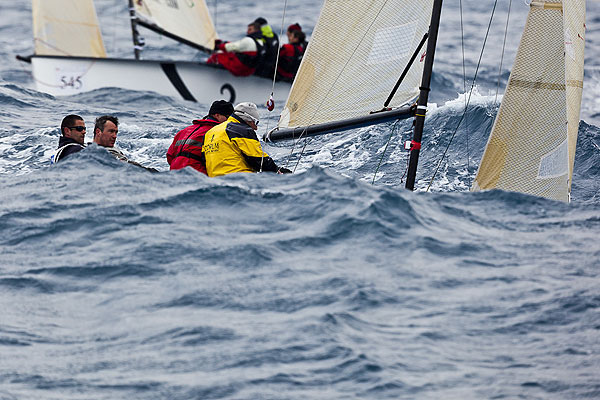
M 283 4 L 208 1 L 224 38 L 260 15 L 279 29 Z M 463 2 L 467 77 L 492 6 Z M 109 53 L 131 56 L 126 2 L 97 7 Z M 0 399 L 600 398 L 600 2 L 587 7 L 563 204 L 468 192 L 522 1 L 511 4 L 500 78 L 508 3 L 498 5 L 467 128 L 426 191 L 470 86 L 459 3 L 445 2 L 414 193 L 402 182 L 409 122 L 315 138 L 302 157 L 266 145 L 293 175 L 170 172 L 173 135 L 209 105 L 151 88 L 37 92 L 14 58 L 32 52 L 30 2 L 3 1 Z M 288 0 L 284 26 L 310 31 L 319 8 Z M 146 36 L 149 58 L 202 58 Z M 120 148 L 161 172 L 95 146 L 50 166 L 69 113 L 88 126 L 117 115 Z M 275 113 L 261 113 L 272 127 Z

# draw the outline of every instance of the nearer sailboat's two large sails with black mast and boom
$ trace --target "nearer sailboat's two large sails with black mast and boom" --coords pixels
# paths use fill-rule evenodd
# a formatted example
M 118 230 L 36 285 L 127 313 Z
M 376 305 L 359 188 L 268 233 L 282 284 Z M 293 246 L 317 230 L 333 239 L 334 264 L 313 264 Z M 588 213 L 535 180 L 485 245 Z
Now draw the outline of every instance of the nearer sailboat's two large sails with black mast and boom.
M 533 0 L 529 6 L 471 190 L 569 201 L 583 88 L 585 0 Z M 441 8 L 442 0 L 326 0 L 278 126 L 264 140 L 414 118 L 413 138 L 405 144 L 406 188 L 414 190 Z M 336 54 L 328 54 L 332 43 Z M 347 46 L 340 49 L 339 43 Z

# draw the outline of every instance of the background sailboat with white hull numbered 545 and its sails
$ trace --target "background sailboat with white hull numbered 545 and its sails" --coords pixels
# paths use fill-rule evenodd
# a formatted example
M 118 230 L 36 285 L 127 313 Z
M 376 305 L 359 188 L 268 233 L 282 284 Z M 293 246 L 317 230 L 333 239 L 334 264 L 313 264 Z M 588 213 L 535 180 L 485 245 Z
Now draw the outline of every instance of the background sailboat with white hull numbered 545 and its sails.
M 107 57 L 93 0 L 32 0 L 35 52 L 31 62 L 39 91 L 74 95 L 103 87 L 155 91 L 210 104 L 224 98 L 263 103 L 268 78 L 237 77 L 218 65 L 140 59 L 144 27 L 210 53 L 217 33 L 204 0 L 129 0 L 135 58 Z M 278 81 L 277 93 L 291 83 Z

